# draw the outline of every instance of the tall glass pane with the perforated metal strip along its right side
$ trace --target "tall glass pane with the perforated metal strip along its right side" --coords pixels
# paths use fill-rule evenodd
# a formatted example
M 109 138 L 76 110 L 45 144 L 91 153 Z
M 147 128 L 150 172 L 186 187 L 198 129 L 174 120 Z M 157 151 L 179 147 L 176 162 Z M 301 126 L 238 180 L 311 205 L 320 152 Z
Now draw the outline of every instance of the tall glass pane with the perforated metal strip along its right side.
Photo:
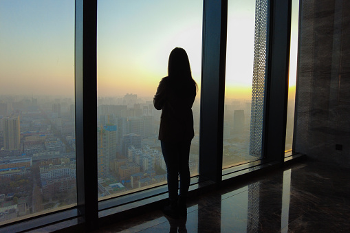
M 223 168 L 261 158 L 267 1 L 228 1 Z

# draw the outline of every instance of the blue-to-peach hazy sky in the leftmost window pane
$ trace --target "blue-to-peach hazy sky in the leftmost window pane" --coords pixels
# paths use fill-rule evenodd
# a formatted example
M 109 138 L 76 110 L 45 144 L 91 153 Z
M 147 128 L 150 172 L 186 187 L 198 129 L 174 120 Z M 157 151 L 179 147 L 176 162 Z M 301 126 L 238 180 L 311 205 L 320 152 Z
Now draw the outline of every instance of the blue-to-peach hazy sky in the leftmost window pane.
M 74 94 L 74 1 L 0 1 L 0 93 Z

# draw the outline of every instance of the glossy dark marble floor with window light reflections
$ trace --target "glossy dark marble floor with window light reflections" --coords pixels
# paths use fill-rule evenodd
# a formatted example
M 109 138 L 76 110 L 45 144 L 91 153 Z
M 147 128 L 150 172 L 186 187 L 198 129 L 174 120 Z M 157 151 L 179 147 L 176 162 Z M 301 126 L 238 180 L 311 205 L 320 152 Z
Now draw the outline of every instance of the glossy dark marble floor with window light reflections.
M 303 162 L 193 198 L 187 213 L 153 211 L 98 232 L 350 232 L 350 169 Z

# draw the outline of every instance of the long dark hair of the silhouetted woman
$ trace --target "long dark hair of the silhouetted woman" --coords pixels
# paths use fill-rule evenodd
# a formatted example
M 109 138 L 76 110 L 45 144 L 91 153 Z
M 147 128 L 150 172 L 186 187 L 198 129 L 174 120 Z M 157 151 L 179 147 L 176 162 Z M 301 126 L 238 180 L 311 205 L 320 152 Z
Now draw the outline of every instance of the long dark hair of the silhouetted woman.
M 195 87 L 197 92 L 197 83 L 192 78 L 190 61 L 185 49 L 175 47 L 171 51 L 168 60 L 168 76 L 174 88 L 182 89 L 182 91 L 188 93 Z

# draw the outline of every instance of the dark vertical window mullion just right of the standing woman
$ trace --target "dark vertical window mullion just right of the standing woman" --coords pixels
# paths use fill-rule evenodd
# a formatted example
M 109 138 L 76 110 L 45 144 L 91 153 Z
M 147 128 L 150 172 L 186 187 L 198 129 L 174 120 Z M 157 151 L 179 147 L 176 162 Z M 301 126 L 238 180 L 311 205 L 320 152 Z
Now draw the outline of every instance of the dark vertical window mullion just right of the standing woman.
M 222 174 L 228 1 L 204 0 L 199 175 Z

